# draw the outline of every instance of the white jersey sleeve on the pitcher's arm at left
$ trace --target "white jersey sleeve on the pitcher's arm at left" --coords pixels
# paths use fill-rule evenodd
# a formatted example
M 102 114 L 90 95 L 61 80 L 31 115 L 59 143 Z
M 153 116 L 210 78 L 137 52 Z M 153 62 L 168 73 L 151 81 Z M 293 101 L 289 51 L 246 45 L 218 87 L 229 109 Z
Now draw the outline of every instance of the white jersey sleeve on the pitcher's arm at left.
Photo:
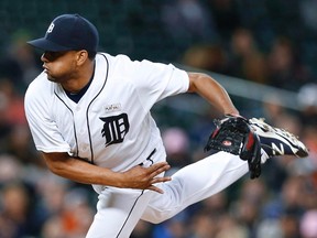
M 25 97 L 24 108 L 29 127 L 36 150 L 50 152 L 70 152 L 70 147 L 63 140 L 54 120 L 50 117 L 50 93 L 45 88 L 30 85 Z

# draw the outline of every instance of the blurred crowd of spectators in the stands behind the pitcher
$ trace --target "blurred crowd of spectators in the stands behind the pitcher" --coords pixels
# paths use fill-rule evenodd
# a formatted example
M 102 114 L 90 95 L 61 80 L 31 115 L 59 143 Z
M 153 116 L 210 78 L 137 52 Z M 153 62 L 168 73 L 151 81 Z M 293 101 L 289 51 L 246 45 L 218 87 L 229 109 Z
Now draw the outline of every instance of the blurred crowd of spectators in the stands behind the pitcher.
M 317 77 L 307 63 L 314 57 L 307 50 L 311 43 L 304 41 L 304 33 L 309 39 L 317 31 L 316 1 L 157 4 L 155 21 L 181 51 L 171 61 L 296 93 L 298 110 L 274 104 L 278 95 L 263 102 L 258 115 L 248 102 L 239 109 L 299 136 L 310 151 L 304 160 L 272 158 L 260 178 L 247 174 L 163 224 L 140 221 L 131 238 L 317 238 Z M 94 218 L 97 194 L 89 185 L 52 174 L 34 149 L 23 97 L 42 68 L 39 53 L 25 44 L 28 30 L 17 30 L 0 56 L 0 238 L 81 238 Z M 206 156 L 204 143 L 219 116 L 211 108 L 196 118 L 172 111 L 186 122 L 157 121 L 171 174 Z M 153 115 L 160 118 L 157 111 Z

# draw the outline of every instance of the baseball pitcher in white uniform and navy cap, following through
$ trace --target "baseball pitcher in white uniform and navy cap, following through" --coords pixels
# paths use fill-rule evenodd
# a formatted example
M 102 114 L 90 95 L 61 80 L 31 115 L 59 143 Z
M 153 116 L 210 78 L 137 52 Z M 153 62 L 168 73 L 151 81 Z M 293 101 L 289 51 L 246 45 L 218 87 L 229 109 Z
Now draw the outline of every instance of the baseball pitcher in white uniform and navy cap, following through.
M 251 178 L 260 176 L 271 156 L 307 155 L 287 131 L 241 117 L 208 75 L 100 53 L 98 41 L 95 25 L 79 14 L 55 18 L 43 37 L 29 42 L 43 51 L 43 72 L 25 94 L 32 137 L 47 167 L 91 184 L 99 195 L 87 238 L 128 238 L 140 219 L 162 223 L 249 171 Z M 164 176 L 170 165 L 151 108 L 184 93 L 223 113 L 206 144 L 217 153 Z

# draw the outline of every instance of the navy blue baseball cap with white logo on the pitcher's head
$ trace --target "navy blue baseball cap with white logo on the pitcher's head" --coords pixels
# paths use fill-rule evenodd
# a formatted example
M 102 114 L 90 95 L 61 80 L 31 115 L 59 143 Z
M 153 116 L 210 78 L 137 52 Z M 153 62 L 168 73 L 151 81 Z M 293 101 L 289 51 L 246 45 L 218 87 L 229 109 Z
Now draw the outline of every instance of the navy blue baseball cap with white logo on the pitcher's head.
M 45 36 L 28 44 L 43 51 L 97 52 L 99 34 L 96 26 L 79 14 L 62 14 L 50 24 Z

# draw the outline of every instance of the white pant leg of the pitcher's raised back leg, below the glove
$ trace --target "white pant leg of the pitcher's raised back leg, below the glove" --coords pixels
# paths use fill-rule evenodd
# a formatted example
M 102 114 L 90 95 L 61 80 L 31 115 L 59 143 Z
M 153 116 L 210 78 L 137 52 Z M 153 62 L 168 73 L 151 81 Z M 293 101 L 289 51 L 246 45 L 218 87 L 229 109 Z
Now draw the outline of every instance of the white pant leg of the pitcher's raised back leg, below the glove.
M 189 164 L 160 184 L 164 194 L 154 194 L 142 219 L 164 221 L 187 206 L 203 201 L 236 182 L 249 171 L 248 162 L 226 152 L 218 152 Z

